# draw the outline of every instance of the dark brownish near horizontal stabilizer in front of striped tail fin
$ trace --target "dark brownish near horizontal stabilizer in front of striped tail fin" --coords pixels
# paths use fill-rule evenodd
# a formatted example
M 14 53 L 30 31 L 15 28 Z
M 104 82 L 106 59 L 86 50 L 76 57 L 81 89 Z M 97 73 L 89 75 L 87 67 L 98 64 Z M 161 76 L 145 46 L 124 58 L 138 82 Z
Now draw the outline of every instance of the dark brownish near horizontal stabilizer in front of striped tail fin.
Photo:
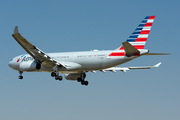
M 134 46 L 132 46 L 129 42 L 123 42 L 122 43 L 124 50 L 126 52 L 126 56 L 127 57 L 131 57 L 137 53 L 140 53 L 140 51 L 138 49 L 136 49 Z

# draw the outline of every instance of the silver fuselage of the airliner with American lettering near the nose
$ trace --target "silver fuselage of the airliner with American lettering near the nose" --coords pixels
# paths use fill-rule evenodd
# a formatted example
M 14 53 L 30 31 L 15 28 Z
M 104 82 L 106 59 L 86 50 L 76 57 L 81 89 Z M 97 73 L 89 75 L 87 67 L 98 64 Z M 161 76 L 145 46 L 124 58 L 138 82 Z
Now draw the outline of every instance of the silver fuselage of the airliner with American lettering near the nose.
M 148 50 L 140 51 L 141 54 L 147 53 Z M 86 71 L 102 70 L 110 67 L 114 67 L 139 56 L 110 56 L 111 53 L 124 53 L 122 51 L 107 50 L 107 51 L 84 51 L 84 52 L 62 52 L 62 53 L 47 53 L 51 58 L 66 65 L 66 69 L 59 67 L 59 73 L 82 73 Z M 22 70 L 22 64 L 28 64 L 35 61 L 29 54 L 24 54 L 13 58 L 9 62 L 9 66 L 17 71 L 23 72 L 52 72 L 53 67 L 47 67 L 48 65 L 41 66 L 41 69 L 37 70 Z

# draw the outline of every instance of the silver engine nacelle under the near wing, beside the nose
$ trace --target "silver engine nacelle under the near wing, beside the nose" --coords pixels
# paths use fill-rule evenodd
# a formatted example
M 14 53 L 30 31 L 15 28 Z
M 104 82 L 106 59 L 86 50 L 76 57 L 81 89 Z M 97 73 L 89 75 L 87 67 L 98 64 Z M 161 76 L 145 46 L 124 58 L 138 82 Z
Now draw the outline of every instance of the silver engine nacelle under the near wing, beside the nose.
M 40 63 L 36 63 L 34 61 L 22 62 L 19 65 L 19 68 L 22 71 L 34 71 L 34 70 L 41 69 L 41 64 Z

